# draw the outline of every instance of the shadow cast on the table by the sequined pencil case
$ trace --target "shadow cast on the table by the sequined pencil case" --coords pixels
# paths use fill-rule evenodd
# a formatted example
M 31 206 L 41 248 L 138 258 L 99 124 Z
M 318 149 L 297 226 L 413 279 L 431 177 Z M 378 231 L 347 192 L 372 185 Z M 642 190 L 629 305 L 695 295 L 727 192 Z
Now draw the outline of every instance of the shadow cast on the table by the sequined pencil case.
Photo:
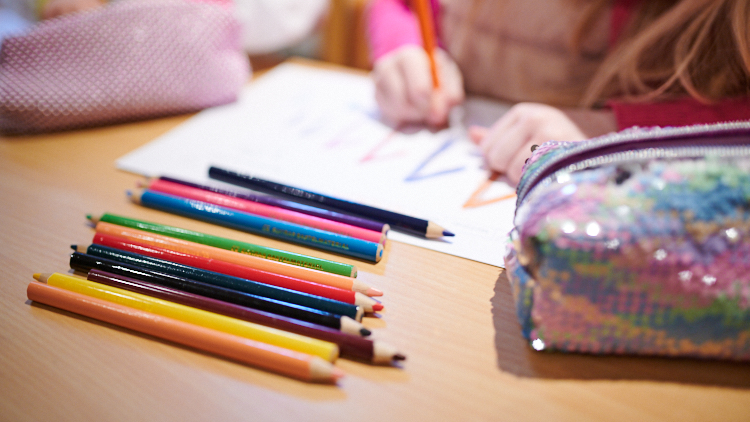
M 750 388 L 750 364 L 688 358 L 586 355 L 534 351 L 521 335 L 505 272 L 492 298 L 498 367 L 519 377 L 647 380 Z

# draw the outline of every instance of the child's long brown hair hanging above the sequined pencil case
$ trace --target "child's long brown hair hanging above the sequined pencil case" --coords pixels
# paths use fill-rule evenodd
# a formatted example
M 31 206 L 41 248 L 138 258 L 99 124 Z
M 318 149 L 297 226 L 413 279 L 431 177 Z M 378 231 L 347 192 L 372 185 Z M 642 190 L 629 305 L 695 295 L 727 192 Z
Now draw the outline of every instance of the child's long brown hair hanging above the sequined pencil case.
M 750 0 L 642 0 L 582 105 L 748 94 Z

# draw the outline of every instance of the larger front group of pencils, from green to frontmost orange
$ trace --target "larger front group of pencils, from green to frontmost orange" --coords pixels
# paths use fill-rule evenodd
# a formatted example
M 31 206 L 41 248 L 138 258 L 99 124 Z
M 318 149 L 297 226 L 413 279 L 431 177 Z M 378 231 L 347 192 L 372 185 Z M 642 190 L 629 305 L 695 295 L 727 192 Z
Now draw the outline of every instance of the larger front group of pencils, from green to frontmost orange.
M 113 214 L 88 218 L 93 241 L 70 256 L 86 278 L 35 274 L 29 299 L 307 381 L 336 382 L 339 356 L 405 359 L 365 338 L 362 317 L 383 310 L 373 299 L 382 292 L 352 265 Z

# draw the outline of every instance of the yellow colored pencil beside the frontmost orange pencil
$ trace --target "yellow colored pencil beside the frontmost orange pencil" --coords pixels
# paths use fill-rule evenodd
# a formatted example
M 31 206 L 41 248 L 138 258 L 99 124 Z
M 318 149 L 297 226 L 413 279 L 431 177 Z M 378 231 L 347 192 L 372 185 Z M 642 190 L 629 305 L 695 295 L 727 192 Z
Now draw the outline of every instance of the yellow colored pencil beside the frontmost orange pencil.
M 283 347 L 284 349 L 307 353 L 330 362 L 335 361 L 339 356 L 339 347 L 329 341 L 313 339 L 288 331 L 266 327 L 265 325 L 230 318 L 226 315 L 191 308 L 179 303 L 95 283 L 80 277 L 53 273 L 35 274 L 34 278 L 50 286 L 59 287 L 71 292 L 140 309 L 141 311 L 151 312 L 167 318 L 187 322 L 188 324 L 199 325 L 261 343 Z

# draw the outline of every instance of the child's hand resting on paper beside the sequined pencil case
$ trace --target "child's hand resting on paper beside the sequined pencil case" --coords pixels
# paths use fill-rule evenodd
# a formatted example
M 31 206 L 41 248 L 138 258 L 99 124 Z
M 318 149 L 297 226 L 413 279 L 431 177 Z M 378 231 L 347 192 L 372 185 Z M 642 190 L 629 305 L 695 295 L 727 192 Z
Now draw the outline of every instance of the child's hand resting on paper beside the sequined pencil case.
M 490 168 L 504 173 L 513 183 L 521 178 L 532 145 L 587 138 L 561 110 L 535 103 L 517 104 L 492 127 L 469 128 L 469 136 L 479 145 Z

